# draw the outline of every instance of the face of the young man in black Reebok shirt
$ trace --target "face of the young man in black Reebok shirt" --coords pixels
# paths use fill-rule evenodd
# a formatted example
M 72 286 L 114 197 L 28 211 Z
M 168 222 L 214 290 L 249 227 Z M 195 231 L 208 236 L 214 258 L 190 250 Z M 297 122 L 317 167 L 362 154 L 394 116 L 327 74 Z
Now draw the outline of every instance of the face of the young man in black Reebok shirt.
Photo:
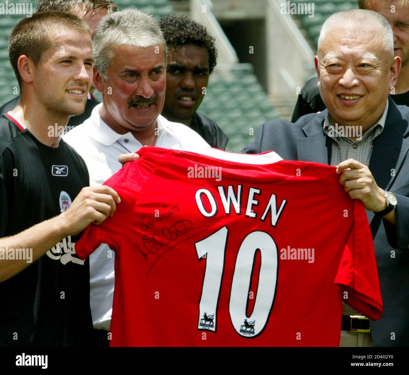
M 72 29 L 61 29 L 50 37 L 52 47 L 43 52 L 37 67 L 33 67 L 36 99 L 47 111 L 80 115 L 92 81 L 91 37 Z

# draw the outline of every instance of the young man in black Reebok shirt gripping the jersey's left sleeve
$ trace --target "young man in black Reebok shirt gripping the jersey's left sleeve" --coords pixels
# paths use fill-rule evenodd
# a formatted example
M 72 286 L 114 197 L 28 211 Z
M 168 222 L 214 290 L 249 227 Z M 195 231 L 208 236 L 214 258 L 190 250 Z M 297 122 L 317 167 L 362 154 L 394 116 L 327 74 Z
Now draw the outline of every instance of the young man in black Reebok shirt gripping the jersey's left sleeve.
M 9 57 L 21 102 L 0 117 L 0 346 L 87 345 L 89 264 L 75 242 L 120 202 L 85 187 L 83 159 L 60 139 L 85 107 L 90 29 L 70 13 L 34 13 L 11 32 Z

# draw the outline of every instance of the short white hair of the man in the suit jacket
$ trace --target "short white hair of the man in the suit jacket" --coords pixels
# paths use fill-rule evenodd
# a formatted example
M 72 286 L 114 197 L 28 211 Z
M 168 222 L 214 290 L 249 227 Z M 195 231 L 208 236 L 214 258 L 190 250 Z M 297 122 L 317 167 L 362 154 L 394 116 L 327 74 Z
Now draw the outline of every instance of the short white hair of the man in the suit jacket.
M 393 59 L 393 31 L 391 25 L 381 14 L 366 9 L 351 9 L 329 16 L 325 20 L 324 25 L 322 25 L 321 33 L 319 34 L 318 50 L 320 50 L 320 45 L 330 29 L 339 27 L 343 22 L 348 21 L 352 21 L 358 26 L 371 24 L 374 30 L 378 28 L 378 35 L 383 38 L 384 47 L 387 49 L 391 60 Z

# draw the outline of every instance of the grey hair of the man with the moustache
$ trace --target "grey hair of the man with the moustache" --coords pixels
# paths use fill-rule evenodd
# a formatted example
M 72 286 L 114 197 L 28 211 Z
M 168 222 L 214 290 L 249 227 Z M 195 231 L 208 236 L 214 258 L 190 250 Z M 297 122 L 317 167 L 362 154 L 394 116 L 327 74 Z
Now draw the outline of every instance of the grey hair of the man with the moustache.
M 114 48 L 124 44 L 134 47 L 162 45 L 166 60 L 166 42 L 159 22 L 153 16 L 137 9 L 108 13 L 99 22 L 92 40 L 95 68 L 105 81 L 108 80 L 107 70 L 114 57 Z

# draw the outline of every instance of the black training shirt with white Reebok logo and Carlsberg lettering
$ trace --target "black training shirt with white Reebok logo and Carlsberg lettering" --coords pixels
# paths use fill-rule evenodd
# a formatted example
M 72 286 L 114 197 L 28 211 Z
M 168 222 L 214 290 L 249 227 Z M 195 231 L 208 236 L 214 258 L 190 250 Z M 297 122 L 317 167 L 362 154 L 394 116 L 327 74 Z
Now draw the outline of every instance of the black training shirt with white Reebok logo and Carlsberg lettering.
M 85 162 L 71 146 L 61 139 L 57 148 L 48 147 L 21 129 L 0 117 L 0 238 L 63 213 L 89 186 Z M 78 239 L 64 238 L 0 283 L 0 346 L 89 344 L 89 261 L 76 256 Z M 0 249 L 3 259 L 5 250 Z

